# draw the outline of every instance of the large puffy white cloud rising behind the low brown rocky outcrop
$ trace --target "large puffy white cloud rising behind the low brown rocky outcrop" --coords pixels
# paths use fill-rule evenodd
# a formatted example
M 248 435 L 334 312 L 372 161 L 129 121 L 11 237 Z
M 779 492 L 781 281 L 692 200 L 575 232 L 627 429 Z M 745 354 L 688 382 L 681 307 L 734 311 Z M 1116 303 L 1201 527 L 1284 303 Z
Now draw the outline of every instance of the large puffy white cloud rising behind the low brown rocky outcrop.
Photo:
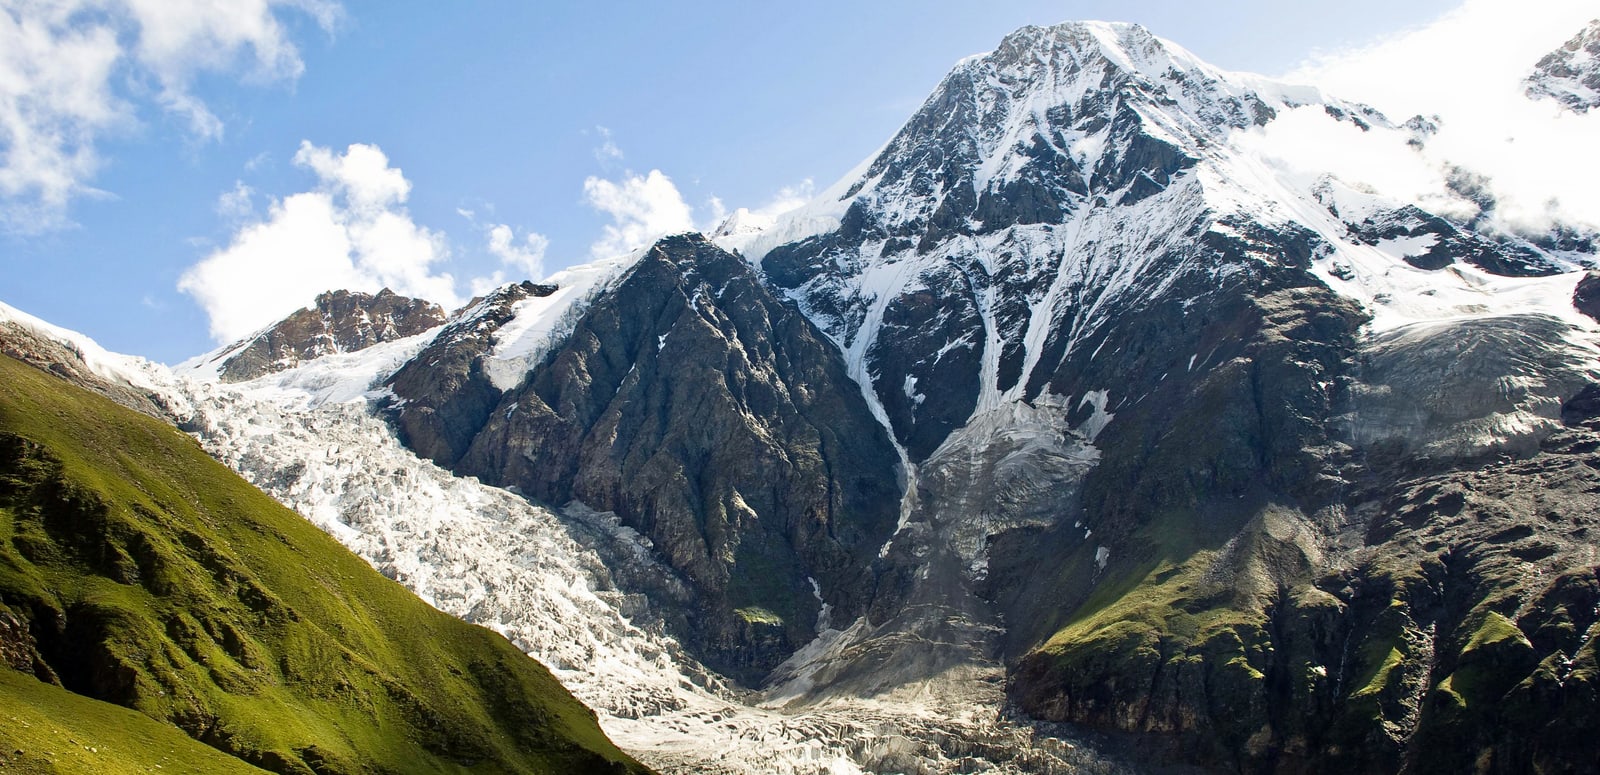
M 294 163 L 317 175 L 317 187 L 272 202 L 266 219 L 178 283 L 210 315 L 216 341 L 246 336 L 331 288 L 461 303 L 454 279 L 434 269 L 450 258 L 443 235 L 411 221 L 411 183 L 382 151 L 354 144 L 334 154 L 301 143 Z

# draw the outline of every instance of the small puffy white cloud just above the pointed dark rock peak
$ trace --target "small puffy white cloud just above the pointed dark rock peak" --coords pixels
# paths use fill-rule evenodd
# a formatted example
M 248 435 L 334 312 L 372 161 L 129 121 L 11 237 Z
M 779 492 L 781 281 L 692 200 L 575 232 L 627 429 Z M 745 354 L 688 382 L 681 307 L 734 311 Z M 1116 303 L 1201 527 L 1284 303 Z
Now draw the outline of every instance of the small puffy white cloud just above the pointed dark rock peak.
M 621 183 L 587 178 L 584 200 L 611 216 L 602 237 L 589 247 L 594 258 L 618 256 L 666 234 L 694 229 L 693 208 L 661 170 L 627 173 Z

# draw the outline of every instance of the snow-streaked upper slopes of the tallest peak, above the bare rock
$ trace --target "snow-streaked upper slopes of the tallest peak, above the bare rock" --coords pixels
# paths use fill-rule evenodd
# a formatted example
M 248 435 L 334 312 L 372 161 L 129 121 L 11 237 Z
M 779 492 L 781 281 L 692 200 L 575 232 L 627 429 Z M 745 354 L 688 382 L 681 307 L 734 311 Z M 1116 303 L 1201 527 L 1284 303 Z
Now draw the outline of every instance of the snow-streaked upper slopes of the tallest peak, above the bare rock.
M 1539 299 L 1574 319 L 1570 272 L 1592 256 L 1477 235 L 1427 202 L 1261 154 L 1264 128 L 1298 112 L 1395 146 L 1413 133 L 1314 88 L 1218 70 L 1138 26 L 1030 27 L 958 64 L 859 176 L 744 245 L 886 402 L 915 402 L 906 386 L 918 381 L 971 384 L 970 404 L 947 416 L 904 407 L 902 437 L 922 418 L 954 426 L 968 408 L 1035 394 L 1040 370 L 1094 341 L 1120 309 L 1189 290 L 1184 275 L 1224 285 L 1232 263 L 1178 256 L 1195 242 L 1237 242 L 1251 263 L 1302 261 L 1379 330 L 1528 312 Z M 1253 255 L 1261 229 L 1301 234 L 1306 255 Z M 1437 250 L 1446 243 L 1450 258 Z M 896 298 L 926 288 L 963 298 L 906 319 L 915 312 Z M 909 368 L 878 368 L 885 315 L 896 336 L 896 323 L 931 335 Z M 931 330 L 954 319 L 979 325 Z M 960 339 L 978 328 L 987 341 Z

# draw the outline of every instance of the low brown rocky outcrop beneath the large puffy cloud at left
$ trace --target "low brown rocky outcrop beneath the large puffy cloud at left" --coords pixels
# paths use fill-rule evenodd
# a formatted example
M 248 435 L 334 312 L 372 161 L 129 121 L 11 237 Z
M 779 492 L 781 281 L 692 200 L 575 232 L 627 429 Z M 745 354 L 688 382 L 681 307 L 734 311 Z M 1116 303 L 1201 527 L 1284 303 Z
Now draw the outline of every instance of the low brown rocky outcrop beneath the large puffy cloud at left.
M 317 303 L 285 317 L 235 347 L 218 373 L 224 383 L 242 383 L 294 368 L 333 352 L 355 352 L 373 344 L 414 336 L 445 322 L 445 311 L 424 299 L 384 288 L 378 295 L 328 291 Z

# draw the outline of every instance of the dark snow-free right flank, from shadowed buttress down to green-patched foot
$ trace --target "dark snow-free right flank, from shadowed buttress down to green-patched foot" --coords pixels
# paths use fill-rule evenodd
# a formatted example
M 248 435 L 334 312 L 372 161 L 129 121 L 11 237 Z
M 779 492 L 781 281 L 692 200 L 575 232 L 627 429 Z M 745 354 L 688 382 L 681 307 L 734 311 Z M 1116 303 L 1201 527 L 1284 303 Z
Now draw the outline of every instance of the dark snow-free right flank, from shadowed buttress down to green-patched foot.
M 1258 298 L 1237 365 L 1106 431 L 1083 514 L 1120 562 L 1002 540 L 997 600 L 1043 621 L 1011 632 L 1013 698 L 1248 772 L 1595 761 L 1570 735 L 1600 711 L 1600 436 L 1563 323 L 1357 343 L 1358 317 L 1318 322 L 1338 304 Z M 1125 591 L 1096 602 L 1107 584 Z M 1550 620 L 1584 634 L 1541 640 Z

